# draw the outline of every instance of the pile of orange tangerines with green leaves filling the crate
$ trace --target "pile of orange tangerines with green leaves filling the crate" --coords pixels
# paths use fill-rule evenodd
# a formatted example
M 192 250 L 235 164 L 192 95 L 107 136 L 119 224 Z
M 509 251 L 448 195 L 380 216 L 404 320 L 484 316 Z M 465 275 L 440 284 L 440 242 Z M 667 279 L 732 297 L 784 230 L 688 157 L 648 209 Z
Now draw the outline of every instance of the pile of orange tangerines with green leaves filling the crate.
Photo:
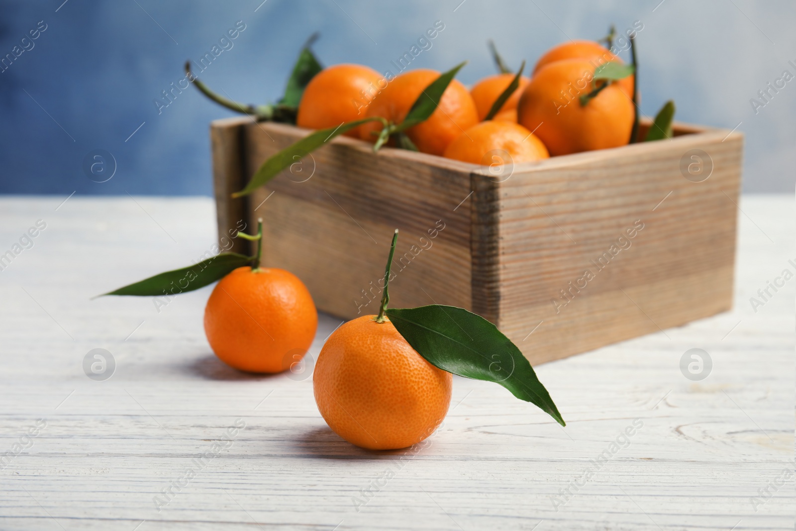
M 606 45 L 556 45 L 539 57 L 529 77 L 522 75 L 525 62 L 519 72 L 510 72 L 492 45 L 501 72 L 469 90 L 454 79 L 465 63 L 442 74 L 417 68 L 381 76 L 361 64 L 322 68 L 308 44 L 280 100 L 295 103 L 295 120 L 291 112 L 280 118 L 272 110 L 257 111 L 271 107 L 214 96 L 188 74 L 202 92 L 228 108 L 316 131 L 267 159 L 238 197 L 337 135 L 373 143 L 374 150 L 387 145 L 483 166 L 538 162 L 637 142 L 636 34 L 629 30 L 632 64 L 614 53 L 613 36 L 612 27 L 603 39 Z M 297 72 L 303 77 L 296 77 Z M 673 103 L 666 103 L 650 126 L 648 140 L 672 135 L 673 112 Z

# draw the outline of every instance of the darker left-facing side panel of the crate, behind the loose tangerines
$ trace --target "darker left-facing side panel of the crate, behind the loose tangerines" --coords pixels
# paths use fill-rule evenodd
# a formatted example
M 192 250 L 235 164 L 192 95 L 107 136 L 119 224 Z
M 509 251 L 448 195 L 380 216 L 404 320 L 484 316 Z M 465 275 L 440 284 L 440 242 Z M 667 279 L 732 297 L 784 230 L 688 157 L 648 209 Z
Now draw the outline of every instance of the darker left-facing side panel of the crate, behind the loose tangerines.
M 248 138 L 254 169 L 300 131 L 252 125 Z M 374 314 L 398 228 L 391 306 L 470 308 L 470 210 L 458 208 L 470 193 L 469 174 L 390 151 L 333 142 L 253 193 L 252 220 L 265 221 L 264 263 L 298 275 L 319 310 Z

